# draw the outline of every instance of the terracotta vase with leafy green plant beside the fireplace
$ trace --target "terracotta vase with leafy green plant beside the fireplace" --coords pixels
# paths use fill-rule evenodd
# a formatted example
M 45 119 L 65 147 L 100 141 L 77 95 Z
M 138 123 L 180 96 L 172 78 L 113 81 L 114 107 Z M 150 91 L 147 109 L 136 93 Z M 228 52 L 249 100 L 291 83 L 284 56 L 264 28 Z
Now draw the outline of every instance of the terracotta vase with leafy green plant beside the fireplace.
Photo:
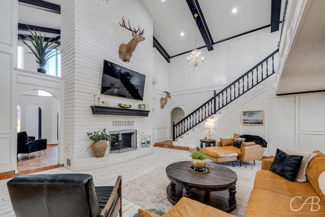
M 96 158 L 103 158 L 108 147 L 106 141 L 111 142 L 113 139 L 115 139 L 115 136 L 106 134 L 106 129 L 103 129 L 102 132 L 88 132 L 87 136 L 91 141 L 93 141 L 91 148 L 95 153 Z

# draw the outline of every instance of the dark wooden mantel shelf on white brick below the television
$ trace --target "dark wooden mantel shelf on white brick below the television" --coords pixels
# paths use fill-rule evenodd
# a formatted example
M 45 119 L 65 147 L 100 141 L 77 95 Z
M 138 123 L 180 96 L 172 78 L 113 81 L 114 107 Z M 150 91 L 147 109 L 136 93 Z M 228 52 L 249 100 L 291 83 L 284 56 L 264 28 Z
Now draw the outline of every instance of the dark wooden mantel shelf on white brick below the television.
M 127 108 L 113 108 L 105 106 L 90 106 L 92 114 L 105 114 L 105 115 L 125 115 L 125 116 L 145 116 L 149 115 L 148 110 L 137 110 Z

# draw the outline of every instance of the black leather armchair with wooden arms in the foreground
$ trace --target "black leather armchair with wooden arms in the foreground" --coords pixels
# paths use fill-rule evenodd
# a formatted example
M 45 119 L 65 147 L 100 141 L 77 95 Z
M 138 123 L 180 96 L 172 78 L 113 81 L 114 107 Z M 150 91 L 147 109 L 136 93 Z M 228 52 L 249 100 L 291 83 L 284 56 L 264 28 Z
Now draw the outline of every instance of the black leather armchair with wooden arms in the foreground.
M 7 182 L 17 217 L 122 216 L 122 177 L 114 187 L 94 187 L 89 174 L 16 176 Z

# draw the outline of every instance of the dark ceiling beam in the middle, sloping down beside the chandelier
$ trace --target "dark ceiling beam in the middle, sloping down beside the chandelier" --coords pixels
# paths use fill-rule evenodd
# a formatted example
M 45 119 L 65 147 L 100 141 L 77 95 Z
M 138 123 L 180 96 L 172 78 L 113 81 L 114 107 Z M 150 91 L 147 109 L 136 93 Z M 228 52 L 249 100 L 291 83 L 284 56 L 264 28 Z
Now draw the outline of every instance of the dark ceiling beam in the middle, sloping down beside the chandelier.
M 198 25 L 198 28 L 202 35 L 202 38 L 203 38 L 204 43 L 205 43 L 206 47 L 208 48 L 208 50 L 209 51 L 213 50 L 213 46 L 212 46 L 213 40 L 212 40 L 210 31 L 209 31 L 208 25 L 204 19 L 204 16 L 203 16 L 203 13 L 200 8 L 198 0 L 186 0 L 186 2 L 187 2 L 187 5 L 188 5 L 191 13 L 192 13 L 194 20 L 195 20 L 194 14 L 199 15 L 197 17 L 197 25 Z

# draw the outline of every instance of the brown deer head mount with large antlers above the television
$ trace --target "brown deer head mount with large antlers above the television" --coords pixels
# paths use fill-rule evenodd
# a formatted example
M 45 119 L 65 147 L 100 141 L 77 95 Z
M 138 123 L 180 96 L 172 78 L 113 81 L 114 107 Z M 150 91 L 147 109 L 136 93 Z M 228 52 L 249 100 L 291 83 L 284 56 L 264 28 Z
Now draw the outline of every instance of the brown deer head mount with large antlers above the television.
M 144 29 L 141 29 L 140 26 L 138 27 L 138 30 L 136 30 L 135 27 L 131 28 L 130 21 L 128 21 L 128 27 L 126 27 L 124 17 L 122 17 L 122 23 L 120 23 L 120 26 L 132 32 L 133 38 L 131 41 L 129 41 L 127 44 L 121 44 L 118 49 L 120 59 L 122 59 L 123 62 L 128 62 L 131 59 L 132 53 L 136 49 L 138 43 L 144 40 L 144 37 L 142 36 Z

